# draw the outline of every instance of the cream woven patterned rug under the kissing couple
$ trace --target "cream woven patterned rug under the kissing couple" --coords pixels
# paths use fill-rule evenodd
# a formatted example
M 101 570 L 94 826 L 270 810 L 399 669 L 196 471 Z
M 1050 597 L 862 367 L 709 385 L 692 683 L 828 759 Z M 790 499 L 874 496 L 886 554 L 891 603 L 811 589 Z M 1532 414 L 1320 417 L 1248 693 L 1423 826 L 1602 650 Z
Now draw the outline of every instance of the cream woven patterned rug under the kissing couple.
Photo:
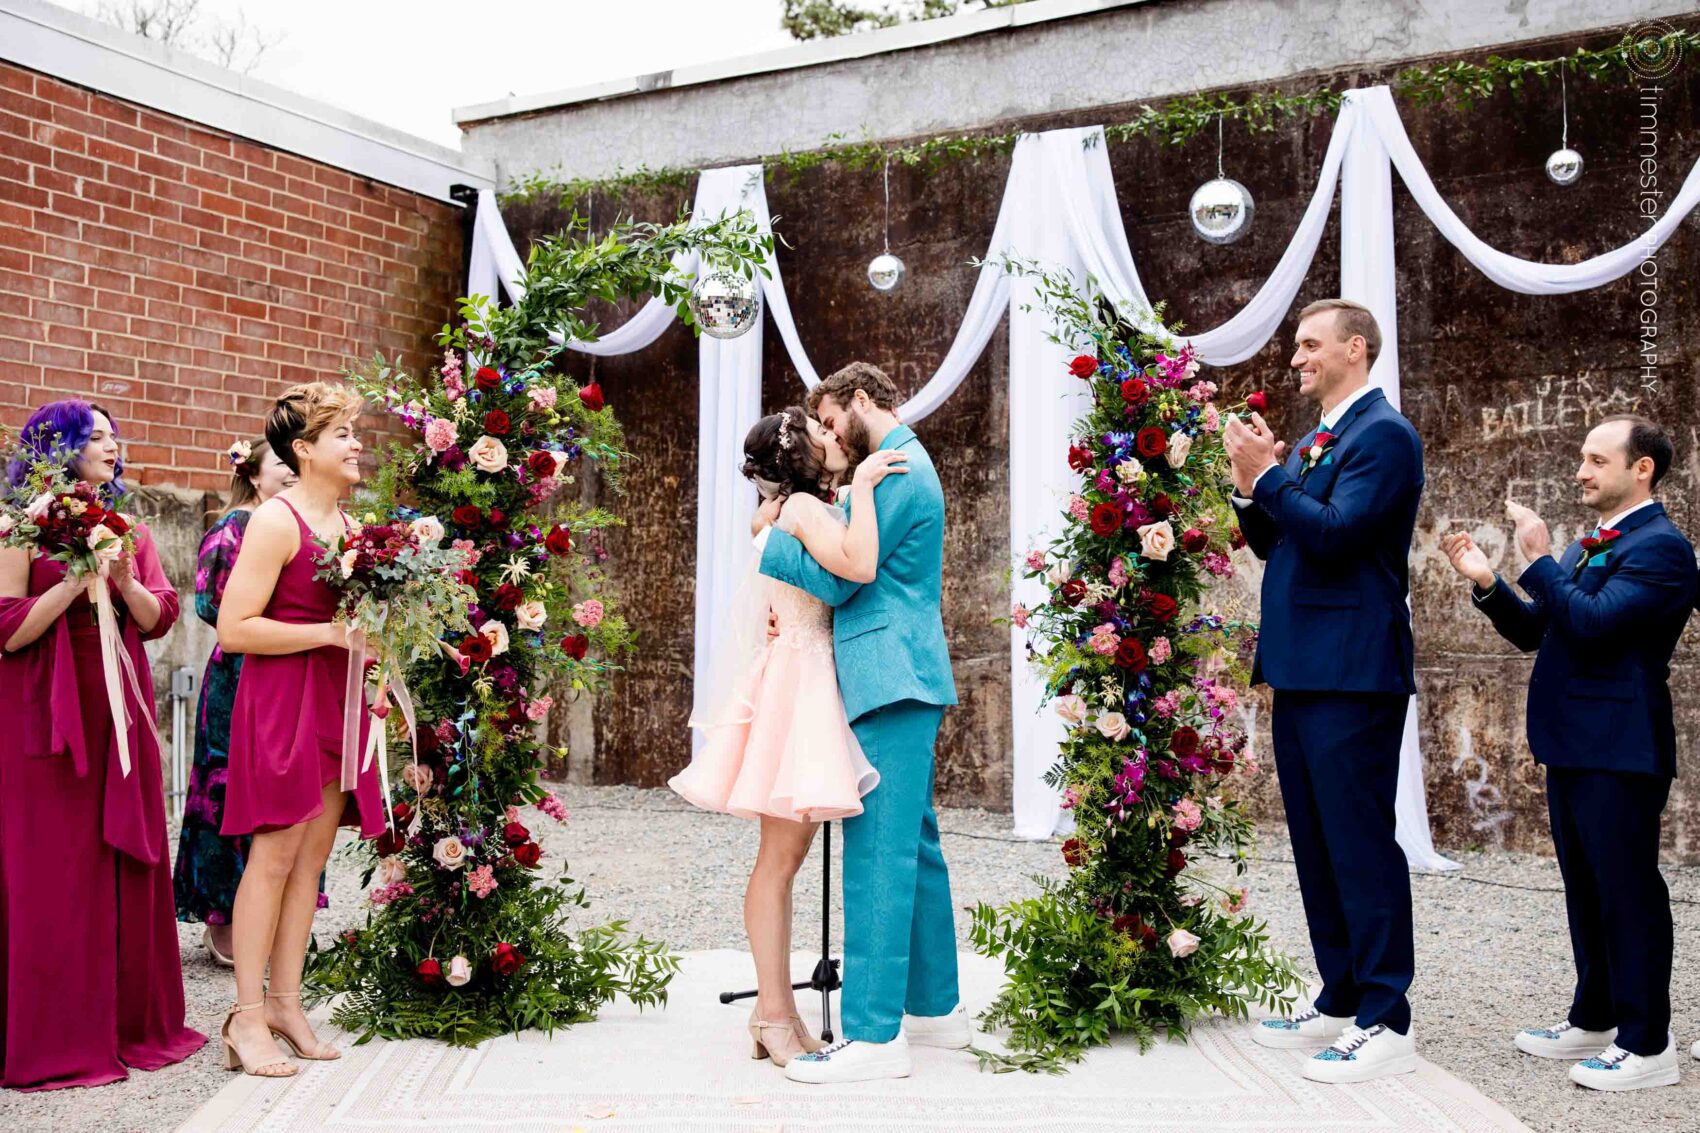
M 1000 968 L 964 954 L 971 1011 Z M 808 973 L 799 954 L 794 970 Z M 750 956 L 688 953 L 665 1011 L 617 1004 L 593 1024 L 552 1038 L 527 1033 L 476 1050 L 437 1043 L 348 1046 L 335 1063 L 299 1063 L 296 1079 L 235 1077 L 182 1128 L 189 1133 L 1030 1133 L 1068 1130 L 1377 1130 L 1503 1131 L 1523 1126 L 1493 1101 L 1423 1063 L 1418 1073 L 1352 1087 L 1299 1077 L 1302 1055 L 1270 1051 L 1241 1024 L 1200 1026 L 1190 1043 L 1095 1051 L 1066 1075 L 983 1073 L 962 1051 L 916 1050 L 904 1080 L 794 1085 L 750 1058 L 748 1005 L 721 990 L 750 987 Z M 819 997 L 801 995 L 818 1019 Z

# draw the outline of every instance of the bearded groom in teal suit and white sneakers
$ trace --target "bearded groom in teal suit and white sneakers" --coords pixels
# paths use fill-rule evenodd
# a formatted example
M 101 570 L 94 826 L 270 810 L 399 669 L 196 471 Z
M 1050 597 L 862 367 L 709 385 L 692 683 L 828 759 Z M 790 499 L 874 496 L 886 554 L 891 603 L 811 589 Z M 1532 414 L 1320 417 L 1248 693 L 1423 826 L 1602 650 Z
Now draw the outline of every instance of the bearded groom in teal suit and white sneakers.
M 955 704 L 938 612 L 945 498 L 915 432 L 896 417 L 898 390 L 881 369 L 852 362 L 809 393 L 809 408 L 852 464 L 898 449 L 906 475 L 877 488 L 879 570 L 847 582 L 802 543 L 768 532 L 762 573 L 835 607 L 833 648 L 850 728 L 879 786 L 843 820 L 843 1039 L 792 1058 L 794 1082 L 864 1082 L 910 1073 L 910 1045 L 969 1045 L 957 995 L 950 874 L 933 813 L 933 740 Z

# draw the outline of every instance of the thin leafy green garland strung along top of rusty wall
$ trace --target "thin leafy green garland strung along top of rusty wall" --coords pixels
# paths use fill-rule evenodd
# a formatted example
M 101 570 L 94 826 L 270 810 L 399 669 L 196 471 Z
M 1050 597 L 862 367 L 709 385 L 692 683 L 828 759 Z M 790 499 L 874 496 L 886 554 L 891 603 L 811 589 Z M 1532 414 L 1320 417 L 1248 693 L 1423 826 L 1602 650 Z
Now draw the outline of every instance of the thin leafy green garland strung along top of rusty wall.
M 1639 73 L 1639 65 L 1664 66 L 1668 60 L 1681 58 L 1683 51 L 1700 53 L 1700 31 L 1671 31 L 1658 39 L 1632 39 L 1624 36 L 1617 44 L 1601 49 L 1578 48 L 1572 54 L 1549 60 L 1508 60 L 1489 54 L 1482 63 L 1455 60 L 1431 66 L 1409 66 L 1389 83 L 1392 94 L 1418 104 L 1450 102 L 1457 109 L 1470 109 L 1479 99 L 1499 88 L 1520 92 L 1528 80 L 1549 83 L 1559 71 L 1612 82 Z M 1238 122 L 1248 133 L 1270 133 L 1287 119 L 1334 114 L 1345 97 L 1343 90 L 1316 87 L 1314 90 L 1285 92 L 1260 90 L 1244 97 L 1227 94 L 1190 94 L 1170 99 L 1161 105 L 1141 105 L 1125 121 L 1103 128 L 1110 141 L 1154 138 L 1163 145 L 1185 145 L 1219 119 Z M 879 168 L 886 162 L 933 174 L 952 162 L 964 162 L 989 153 L 1008 153 L 1027 131 L 1005 134 L 940 134 L 906 146 L 889 146 L 879 141 L 847 141 L 845 134 L 830 134 L 819 148 L 762 158 L 767 174 L 796 177 L 821 165 L 842 165 L 850 170 Z M 556 167 L 559 168 L 559 167 Z M 551 174 L 534 172 L 520 177 L 502 192 L 503 204 L 552 201 L 561 208 L 590 196 L 622 192 L 658 192 L 680 189 L 697 175 L 694 168 L 648 168 L 639 165 L 614 177 L 576 177 L 559 180 Z

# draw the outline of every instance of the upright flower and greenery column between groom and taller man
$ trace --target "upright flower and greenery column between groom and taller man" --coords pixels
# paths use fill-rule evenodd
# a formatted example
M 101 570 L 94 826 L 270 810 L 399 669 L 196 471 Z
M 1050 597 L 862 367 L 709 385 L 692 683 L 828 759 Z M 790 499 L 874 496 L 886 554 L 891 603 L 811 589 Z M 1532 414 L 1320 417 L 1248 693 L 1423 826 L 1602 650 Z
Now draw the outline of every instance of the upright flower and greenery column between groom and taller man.
M 1256 774 L 1236 713 L 1256 626 L 1202 609 L 1243 546 L 1217 386 L 1170 333 L 1035 264 L 1006 267 L 1037 276 L 1056 340 L 1088 350 L 1064 381 L 1093 400 L 1066 442 L 1080 485 L 1062 534 L 1018 551 L 1047 601 L 1010 616 L 1068 725 L 1046 783 L 1076 820 L 1061 847 L 1069 873 L 1039 897 L 979 905 L 969 927 L 1006 976 L 981 1019 L 1010 1029 L 1012 1053 L 976 1051 L 983 1065 L 1054 1072 L 1115 1033 L 1146 1048 L 1200 1016 L 1278 1011 L 1299 978 L 1244 912 L 1246 890 L 1197 869 L 1226 854 L 1244 871 L 1253 822 L 1239 794 Z M 1248 403 L 1266 410 L 1261 395 Z

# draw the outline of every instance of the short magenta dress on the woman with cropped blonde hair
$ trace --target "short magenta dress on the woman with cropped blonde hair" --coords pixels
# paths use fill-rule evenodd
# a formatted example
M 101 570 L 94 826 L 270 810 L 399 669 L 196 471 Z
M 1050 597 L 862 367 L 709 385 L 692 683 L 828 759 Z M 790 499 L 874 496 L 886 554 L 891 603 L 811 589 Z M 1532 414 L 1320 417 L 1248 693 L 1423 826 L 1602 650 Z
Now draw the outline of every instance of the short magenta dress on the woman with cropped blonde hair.
M 296 624 L 332 621 L 337 592 L 313 578 L 325 546 L 289 500 L 279 497 L 279 502 L 296 517 L 301 546 L 279 572 L 265 618 Z M 338 645 L 243 658 L 230 716 L 230 772 L 219 834 L 279 830 L 325 810 L 325 784 L 342 777 L 347 675 L 348 650 Z M 371 723 L 362 708 L 360 752 Z M 357 825 L 366 839 L 384 832 L 376 760 L 345 794 L 342 825 Z

